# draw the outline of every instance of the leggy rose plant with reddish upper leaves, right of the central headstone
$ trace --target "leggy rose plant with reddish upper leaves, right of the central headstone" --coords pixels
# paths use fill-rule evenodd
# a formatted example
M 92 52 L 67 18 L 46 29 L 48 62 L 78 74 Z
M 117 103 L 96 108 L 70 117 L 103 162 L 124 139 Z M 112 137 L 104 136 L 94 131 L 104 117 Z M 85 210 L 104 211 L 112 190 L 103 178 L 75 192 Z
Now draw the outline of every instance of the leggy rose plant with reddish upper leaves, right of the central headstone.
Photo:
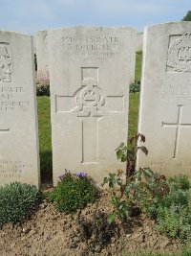
M 141 142 L 145 142 L 144 135 L 138 133 L 138 135 L 129 139 L 130 149 L 124 143 L 121 143 L 116 150 L 117 159 L 120 159 L 121 162 L 126 162 L 125 173 L 122 170 L 118 170 L 117 174 L 109 174 L 108 177 L 104 177 L 102 185 L 108 183 L 109 188 L 112 190 L 111 203 L 114 207 L 114 211 L 108 216 L 108 221 L 110 222 L 116 219 L 125 220 L 130 215 L 134 205 L 134 198 L 132 198 L 134 193 L 130 193 L 130 190 L 132 191 L 133 187 L 137 189 L 136 179 L 140 179 L 142 173 L 150 175 L 149 169 L 140 169 L 138 172 L 135 172 L 138 150 L 146 154 L 148 153 L 144 146 L 136 147 L 136 145 L 134 145 L 137 144 L 139 138 Z M 119 192 L 116 190 L 116 186 L 119 188 Z

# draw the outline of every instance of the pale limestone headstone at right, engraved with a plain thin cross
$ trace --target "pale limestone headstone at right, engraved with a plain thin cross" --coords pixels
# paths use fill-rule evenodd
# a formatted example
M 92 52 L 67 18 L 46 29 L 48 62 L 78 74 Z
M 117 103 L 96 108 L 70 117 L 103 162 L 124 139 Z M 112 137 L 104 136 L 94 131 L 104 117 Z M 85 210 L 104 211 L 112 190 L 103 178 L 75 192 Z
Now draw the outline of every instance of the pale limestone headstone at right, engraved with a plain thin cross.
M 145 29 L 139 132 L 146 137 L 138 167 L 191 175 L 191 23 Z

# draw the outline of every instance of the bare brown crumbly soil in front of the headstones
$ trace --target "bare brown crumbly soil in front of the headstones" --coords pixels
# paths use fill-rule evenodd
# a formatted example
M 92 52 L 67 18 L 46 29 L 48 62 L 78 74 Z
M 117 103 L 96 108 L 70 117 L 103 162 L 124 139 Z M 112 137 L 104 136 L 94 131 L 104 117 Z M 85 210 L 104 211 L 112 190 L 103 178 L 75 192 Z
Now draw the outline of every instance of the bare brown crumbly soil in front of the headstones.
M 77 228 L 77 216 L 88 220 L 97 211 L 110 211 L 110 196 L 103 191 L 101 197 L 77 214 L 58 213 L 53 204 L 44 200 L 31 220 L 12 226 L 6 224 L 0 229 L 1 256 L 85 256 L 85 255 L 125 255 L 125 251 L 149 250 L 160 252 L 178 252 L 180 244 L 159 235 L 154 228 L 154 221 L 143 215 L 132 217 L 123 228 L 112 237 L 104 248 L 96 245 L 90 249 L 93 238 L 82 241 Z

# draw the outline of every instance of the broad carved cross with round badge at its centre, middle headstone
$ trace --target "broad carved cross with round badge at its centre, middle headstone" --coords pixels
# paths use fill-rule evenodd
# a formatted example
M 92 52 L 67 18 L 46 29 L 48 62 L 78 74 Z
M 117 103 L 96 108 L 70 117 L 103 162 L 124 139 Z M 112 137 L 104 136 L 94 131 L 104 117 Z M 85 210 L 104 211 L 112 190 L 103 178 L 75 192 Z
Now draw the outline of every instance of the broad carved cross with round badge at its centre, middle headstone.
M 81 68 L 81 72 L 81 87 L 74 92 L 73 96 L 55 95 L 55 111 L 56 113 L 71 113 L 80 120 L 81 163 L 97 163 L 99 122 L 109 113 L 124 111 L 124 96 L 105 95 L 98 86 L 98 68 Z M 112 104 L 114 101 L 118 103 L 116 109 Z

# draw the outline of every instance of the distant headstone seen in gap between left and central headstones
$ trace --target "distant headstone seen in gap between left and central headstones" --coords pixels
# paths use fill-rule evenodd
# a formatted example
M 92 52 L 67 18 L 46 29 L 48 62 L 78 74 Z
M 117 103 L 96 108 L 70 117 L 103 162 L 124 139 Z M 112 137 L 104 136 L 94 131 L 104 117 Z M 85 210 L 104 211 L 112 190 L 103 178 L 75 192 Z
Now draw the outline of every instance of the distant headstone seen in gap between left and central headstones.
M 39 31 L 35 35 L 37 78 L 39 81 L 49 79 L 48 32 Z

